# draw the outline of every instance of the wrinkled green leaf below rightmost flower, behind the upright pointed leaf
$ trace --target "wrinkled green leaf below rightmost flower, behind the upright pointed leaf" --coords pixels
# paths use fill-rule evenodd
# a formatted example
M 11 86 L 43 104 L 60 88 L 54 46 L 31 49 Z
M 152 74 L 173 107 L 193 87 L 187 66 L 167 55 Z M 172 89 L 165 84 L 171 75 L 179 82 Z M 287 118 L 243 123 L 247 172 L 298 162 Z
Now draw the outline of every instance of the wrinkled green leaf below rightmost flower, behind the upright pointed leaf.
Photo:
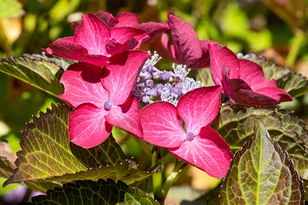
M 245 141 L 254 135 L 255 119 L 259 118 L 279 146 L 290 156 L 307 161 L 308 150 L 297 133 L 283 128 L 281 118 L 276 116 L 276 109 L 258 107 L 232 108 L 229 105 L 220 107 L 220 112 L 211 125 L 229 143 L 231 149 L 239 149 Z

